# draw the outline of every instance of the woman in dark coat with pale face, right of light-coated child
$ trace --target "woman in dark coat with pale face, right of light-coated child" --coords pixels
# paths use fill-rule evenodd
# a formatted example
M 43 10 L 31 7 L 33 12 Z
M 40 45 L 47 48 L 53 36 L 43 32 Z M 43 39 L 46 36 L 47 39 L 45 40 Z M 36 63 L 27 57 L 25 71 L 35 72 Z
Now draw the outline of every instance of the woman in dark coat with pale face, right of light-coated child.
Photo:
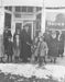
M 56 32 L 54 31 L 52 32 L 52 37 L 50 42 L 48 56 L 51 58 L 51 61 L 55 63 L 56 57 L 58 56 L 58 40 L 57 40 Z

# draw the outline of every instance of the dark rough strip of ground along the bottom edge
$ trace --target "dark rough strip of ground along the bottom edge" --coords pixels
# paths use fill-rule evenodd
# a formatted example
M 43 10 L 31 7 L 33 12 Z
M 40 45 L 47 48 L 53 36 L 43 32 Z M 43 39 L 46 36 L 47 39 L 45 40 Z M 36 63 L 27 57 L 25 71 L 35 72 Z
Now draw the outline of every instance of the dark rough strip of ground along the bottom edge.
M 35 79 L 35 78 L 22 78 L 22 77 L 18 77 L 18 75 L 13 75 L 12 78 L 10 78 L 11 75 L 4 75 L 3 73 L 0 74 L 0 82 L 57 82 L 55 80 L 48 79 Z

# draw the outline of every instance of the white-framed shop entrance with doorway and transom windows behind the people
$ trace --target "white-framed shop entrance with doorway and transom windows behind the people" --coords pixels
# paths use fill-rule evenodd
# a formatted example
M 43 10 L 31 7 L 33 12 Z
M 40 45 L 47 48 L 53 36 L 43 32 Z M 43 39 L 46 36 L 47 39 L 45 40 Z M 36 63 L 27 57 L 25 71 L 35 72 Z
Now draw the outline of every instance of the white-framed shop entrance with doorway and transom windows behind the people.
M 24 25 L 29 25 L 29 33 L 31 38 L 37 35 L 40 31 L 44 32 L 42 24 L 45 20 L 42 19 L 44 14 L 43 0 L 1 0 L 0 1 L 0 27 L 1 34 L 3 30 L 9 27 L 12 35 L 15 30 L 23 28 Z M 43 22 L 42 22 L 43 21 Z M 44 22 L 45 23 L 45 22 Z

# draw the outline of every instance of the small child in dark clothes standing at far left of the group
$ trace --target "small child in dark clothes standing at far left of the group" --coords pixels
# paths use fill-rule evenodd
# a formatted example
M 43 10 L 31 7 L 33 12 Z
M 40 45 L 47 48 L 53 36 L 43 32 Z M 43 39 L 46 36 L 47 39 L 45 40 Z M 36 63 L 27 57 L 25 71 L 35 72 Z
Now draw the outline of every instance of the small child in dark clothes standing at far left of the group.
M 12 43 L 12 40 L 11 40 L 11 36 L 9 36 L 9 38 L 8 38 L 8 52 L 7 52 L 7 55 L 8 55 L 8 62 L 9 62 L 9 60 L 11 59 L 11 62 L 12 62 L 12 56 L 13 56 L 13 43 Z

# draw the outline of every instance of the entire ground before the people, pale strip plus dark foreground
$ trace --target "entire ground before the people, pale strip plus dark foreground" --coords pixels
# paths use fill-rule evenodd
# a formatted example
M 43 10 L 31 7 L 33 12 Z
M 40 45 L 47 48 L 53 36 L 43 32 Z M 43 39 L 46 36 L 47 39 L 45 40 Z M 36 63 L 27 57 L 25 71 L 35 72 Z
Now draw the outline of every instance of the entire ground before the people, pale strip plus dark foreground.
M 32 63 L 0 63 L 0 82 L 65 82 L 65 57 L 39 67 Z

